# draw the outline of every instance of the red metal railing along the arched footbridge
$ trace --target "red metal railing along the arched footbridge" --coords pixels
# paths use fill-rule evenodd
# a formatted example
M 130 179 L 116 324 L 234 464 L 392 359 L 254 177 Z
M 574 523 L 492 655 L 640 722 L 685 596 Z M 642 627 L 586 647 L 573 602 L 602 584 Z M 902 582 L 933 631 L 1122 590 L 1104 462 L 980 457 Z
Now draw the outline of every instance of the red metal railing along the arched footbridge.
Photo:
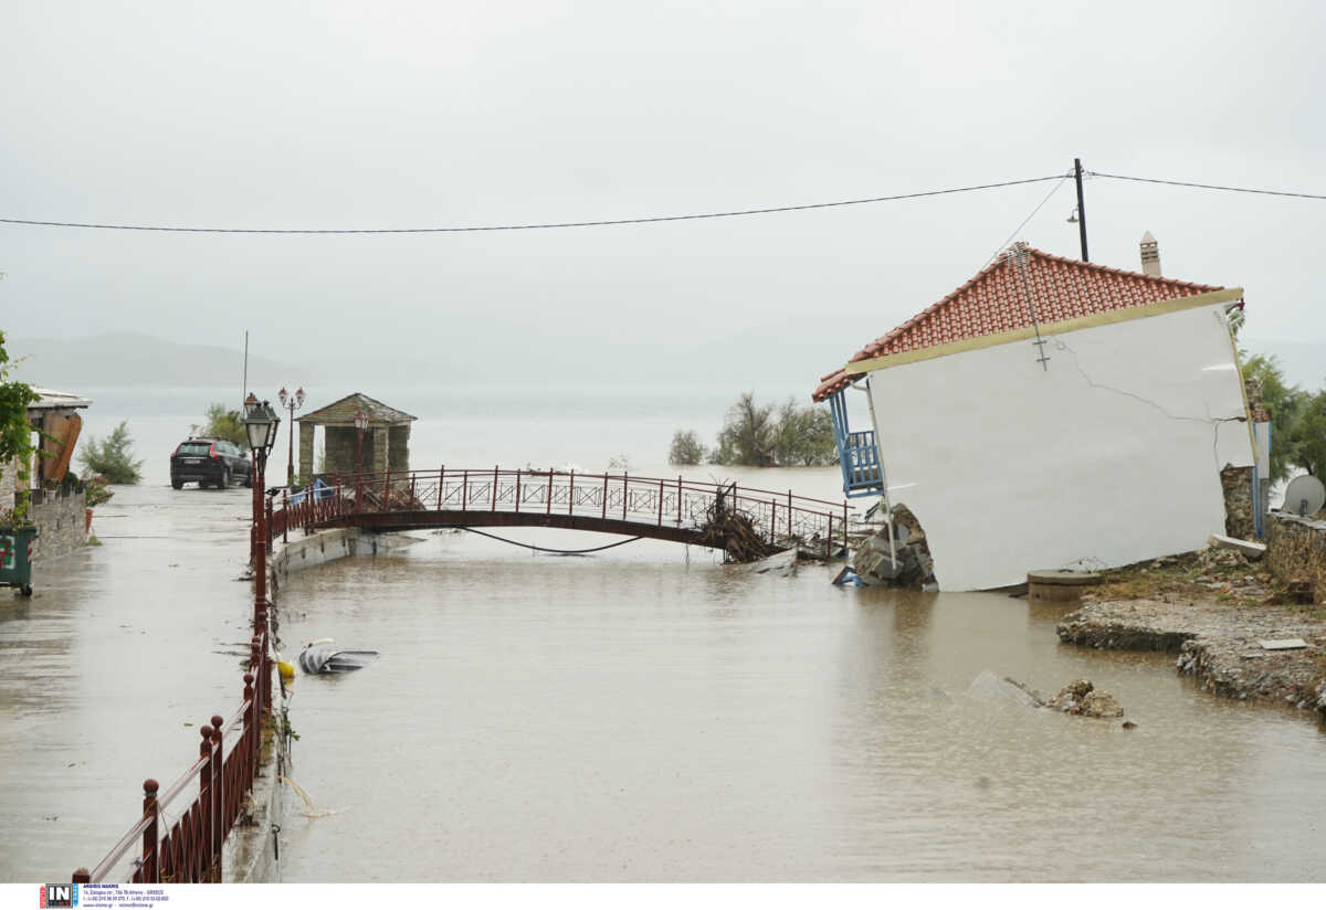
M 683 477 L 578 474 L 557 470 L 455 469 L 377 472 L 328 478 L 332 486 L 282 494 L 269 513 L 269 546 L 289 531 L 347 515 L 387 511 L 534 513 L 621 519 L 642 527 L 699 529 L 713 507 L 747 515 L 770 544 L 822 550 L 846 544 L 846 502 L 697 482 Z

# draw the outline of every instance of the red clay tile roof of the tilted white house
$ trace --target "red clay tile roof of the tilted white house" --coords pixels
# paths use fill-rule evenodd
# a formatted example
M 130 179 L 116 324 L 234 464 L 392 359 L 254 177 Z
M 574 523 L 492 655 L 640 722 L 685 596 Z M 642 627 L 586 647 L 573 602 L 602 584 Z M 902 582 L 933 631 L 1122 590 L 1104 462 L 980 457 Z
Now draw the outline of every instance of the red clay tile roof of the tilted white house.
M 1066 260 L 1026 245 L 1022 249 L 1028 253 L 1026 283 L 1041 325 L 1221 290 L 1216 285 L 1195 285 Z M 1010 257 L 1001 254 L 952 294 L 866 344 L 849 363 L 1030 326 L 1032 314 L 1018 268 Z M 822 401 L 861 375 L 839 368 L 821 376 L 812 397 Z

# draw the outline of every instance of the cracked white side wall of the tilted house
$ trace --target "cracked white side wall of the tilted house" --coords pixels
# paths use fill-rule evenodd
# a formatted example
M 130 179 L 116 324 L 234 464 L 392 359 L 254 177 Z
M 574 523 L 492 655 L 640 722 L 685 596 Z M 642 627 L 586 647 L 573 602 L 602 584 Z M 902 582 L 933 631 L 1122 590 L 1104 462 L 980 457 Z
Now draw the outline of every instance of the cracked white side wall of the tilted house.
M 1220 469 L 1250 465 L 1224 303 L 870 374 L 890 498 L 943 591 L 1124 566 L 1225 526 Z

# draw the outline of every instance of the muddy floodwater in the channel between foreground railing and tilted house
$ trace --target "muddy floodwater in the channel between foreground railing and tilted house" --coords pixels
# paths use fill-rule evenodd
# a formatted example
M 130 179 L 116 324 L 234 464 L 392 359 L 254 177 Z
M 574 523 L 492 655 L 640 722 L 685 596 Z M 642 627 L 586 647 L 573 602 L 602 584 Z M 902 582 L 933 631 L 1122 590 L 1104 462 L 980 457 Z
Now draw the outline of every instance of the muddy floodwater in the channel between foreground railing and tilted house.
M 1196 693 L 1163 654 L 1062 646 L 1025 600 L 691 555 L 436 535 L 292 578 L 288 640 L 382 658 L 296 683 L 292 776 L 345 811 L 292 812 L 285 880 L 1326 874 L 1302 715 Z M 1029 710 L 985 672 L 1089 677 L 1139 727 Z

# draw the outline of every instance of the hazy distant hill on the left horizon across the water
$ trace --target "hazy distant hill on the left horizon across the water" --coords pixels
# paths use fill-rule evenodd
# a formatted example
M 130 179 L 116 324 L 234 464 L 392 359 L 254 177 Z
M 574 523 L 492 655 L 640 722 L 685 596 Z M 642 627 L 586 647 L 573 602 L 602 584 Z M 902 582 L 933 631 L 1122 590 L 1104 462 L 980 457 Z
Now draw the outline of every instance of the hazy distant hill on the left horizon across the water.
M 150 335 L 109 332 L 93 338 L 11 338 L 5 350 L 21 360 L 12 374 L 32 385 L 77 391 L 80 385 L 240 385 L 244 352 L 210 344 L 176 344 Z M 282 381 L 289 366 L 249 358 L 251 384 Z

